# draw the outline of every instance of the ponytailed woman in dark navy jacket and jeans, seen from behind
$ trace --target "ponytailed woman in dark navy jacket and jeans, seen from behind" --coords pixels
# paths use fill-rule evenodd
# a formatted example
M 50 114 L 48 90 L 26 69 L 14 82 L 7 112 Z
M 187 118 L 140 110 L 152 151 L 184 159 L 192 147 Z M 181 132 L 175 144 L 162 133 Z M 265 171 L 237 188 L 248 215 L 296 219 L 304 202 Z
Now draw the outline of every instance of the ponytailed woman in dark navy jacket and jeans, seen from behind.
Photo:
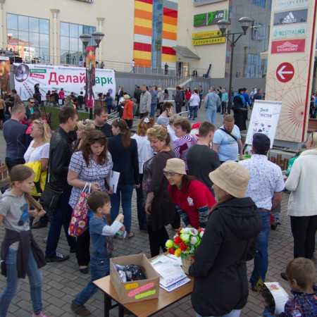
M 111 131 L 113 137 L 108 139 L 108 149 L 113 159 L 113 170 L 120 173 L 117 192 L 111 194 L 111 220 L 118 216 L 120 201 L 123 209 L 123 225 L 128 237 L 131 232 L 131 201 L 133 188 L 139 188 L 139 159 L 137 158 L 137 141 L 131 139 L 130 129 L 123 119 L 113 120 Z

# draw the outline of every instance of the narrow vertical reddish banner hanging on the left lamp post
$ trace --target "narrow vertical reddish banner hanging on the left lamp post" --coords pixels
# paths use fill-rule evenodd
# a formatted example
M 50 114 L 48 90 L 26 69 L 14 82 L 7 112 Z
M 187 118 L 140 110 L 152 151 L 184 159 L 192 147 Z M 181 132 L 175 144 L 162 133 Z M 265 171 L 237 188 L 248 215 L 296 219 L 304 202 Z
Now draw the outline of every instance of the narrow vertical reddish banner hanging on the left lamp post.
M 86 47 L 86 108 L 94 108 L 96 89 L 96 47 Z

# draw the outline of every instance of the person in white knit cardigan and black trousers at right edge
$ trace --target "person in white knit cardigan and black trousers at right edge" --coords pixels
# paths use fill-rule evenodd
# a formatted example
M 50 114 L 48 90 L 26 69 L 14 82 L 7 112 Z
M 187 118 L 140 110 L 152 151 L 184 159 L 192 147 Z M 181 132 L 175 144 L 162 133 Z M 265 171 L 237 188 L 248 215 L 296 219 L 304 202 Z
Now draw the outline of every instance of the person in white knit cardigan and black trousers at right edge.
M 288 214 L 294 237 L 294 258 L 311 259 L 317 229 L 317 132 L 307 140 L 307 151 L 294 161 L 285 183 L 290 190 Z

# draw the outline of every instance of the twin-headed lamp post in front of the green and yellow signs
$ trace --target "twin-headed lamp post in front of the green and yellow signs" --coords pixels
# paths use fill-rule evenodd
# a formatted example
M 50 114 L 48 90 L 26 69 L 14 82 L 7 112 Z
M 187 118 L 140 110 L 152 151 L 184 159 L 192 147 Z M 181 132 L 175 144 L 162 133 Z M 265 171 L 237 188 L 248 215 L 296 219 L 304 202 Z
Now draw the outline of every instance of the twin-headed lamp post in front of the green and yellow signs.
M 241 23 L 242 31 L 243 32 L 227 32 L 228 26 L 230 25 L 230 22 L 228 20 L 220 20 L 217 22 L 219 30 L 221 32 L 221 37 L 226 37 L 228 41 L 230 42 L 231 47 L 231 57 L 230 57 L 230 73 L 229 73 L 229 104 L 228 104 L 228 113 L 230 114 L 231 110 L 231 101 L 232 101 L 232 66 L 233 66 L 233 51 L 235 48 L 235 43 L 237 43 L 237 40 L 242 37 L 242 35 L 247 35 L 247 30 L 250 27 L 250 25 L 253 23 L 253 20 L 251 18 L 248 18 L 247 16 L 244 16 L 238 20 Z M 235 35 L 239 35 L 237 38 L 235 38 Z M 230 39 L 230 37 L 232 38 Z

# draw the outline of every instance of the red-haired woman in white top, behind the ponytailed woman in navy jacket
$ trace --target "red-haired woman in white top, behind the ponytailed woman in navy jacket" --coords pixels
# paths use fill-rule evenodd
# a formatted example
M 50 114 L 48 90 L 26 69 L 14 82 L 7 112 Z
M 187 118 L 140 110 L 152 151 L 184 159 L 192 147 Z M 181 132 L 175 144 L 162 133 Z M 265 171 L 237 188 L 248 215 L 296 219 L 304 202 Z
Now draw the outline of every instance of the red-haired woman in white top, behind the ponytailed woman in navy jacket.
M 137 124 L 137 132 L 131 137 L 137 141 L 137 154 L 139 156 L 139 184 L 140 187 L 137 191 L 137 220 L 139 220 L 139 230 L 147 230 L 147 217 L 142 206 L 143 200 L 143 165 L 146 161 L 154 156 L 154 151 L 151 148 L 151 144 L 147 139 L 147 130 L 154 125 L 153 118 L 142 118 Z

